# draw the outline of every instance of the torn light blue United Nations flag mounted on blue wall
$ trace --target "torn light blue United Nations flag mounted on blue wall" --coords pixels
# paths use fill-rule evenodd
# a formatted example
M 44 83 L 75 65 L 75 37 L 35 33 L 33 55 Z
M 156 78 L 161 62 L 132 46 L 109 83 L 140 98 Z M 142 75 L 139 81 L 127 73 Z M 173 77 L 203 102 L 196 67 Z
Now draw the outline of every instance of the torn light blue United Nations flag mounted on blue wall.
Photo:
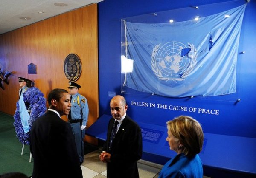
M 246 4 L 176 23 L 125 22 L 125 85 L 161 96 L 217 96 L 236 92 L 236 61 Z M 230 17 L 224 17 L 225 15 Z

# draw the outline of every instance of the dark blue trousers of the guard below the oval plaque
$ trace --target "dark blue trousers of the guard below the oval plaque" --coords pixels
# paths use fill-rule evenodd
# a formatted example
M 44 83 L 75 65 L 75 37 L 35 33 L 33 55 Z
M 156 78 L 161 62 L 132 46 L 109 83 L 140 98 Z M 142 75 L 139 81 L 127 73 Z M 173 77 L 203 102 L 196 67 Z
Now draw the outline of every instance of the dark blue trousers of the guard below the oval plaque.
M 84 161 L 84 136 L 85 136 L 85 129 L 81 130 L 81 122 L 78 123 L 70 123 L 73 131 L 73 135 L 75 137 L 76 142 L 76 150 L 79 156 L 79 161 Z

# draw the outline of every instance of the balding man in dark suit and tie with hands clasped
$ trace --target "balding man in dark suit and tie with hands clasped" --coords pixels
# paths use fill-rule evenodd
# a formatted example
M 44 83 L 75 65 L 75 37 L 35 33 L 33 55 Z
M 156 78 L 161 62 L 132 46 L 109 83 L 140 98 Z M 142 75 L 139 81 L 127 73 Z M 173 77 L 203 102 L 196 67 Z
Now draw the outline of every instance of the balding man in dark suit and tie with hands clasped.
M 123 96 L 114 96 L 110 108 L 113 118 L 108 123 L 107 140 L 99 159 L 107 163 L 108 178 L 139 178 L 140 127 L 126 114 L 128 106 Z

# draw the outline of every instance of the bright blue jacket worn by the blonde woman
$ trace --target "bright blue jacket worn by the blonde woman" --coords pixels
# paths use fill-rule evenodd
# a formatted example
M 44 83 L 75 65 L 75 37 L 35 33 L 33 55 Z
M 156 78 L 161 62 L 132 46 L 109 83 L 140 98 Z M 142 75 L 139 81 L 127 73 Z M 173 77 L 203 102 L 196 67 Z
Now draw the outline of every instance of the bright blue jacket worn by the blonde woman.
M 158 178 L 202 178 L 203 166 L 198 155 L 188 158 L 181 153 L 168 161 Z

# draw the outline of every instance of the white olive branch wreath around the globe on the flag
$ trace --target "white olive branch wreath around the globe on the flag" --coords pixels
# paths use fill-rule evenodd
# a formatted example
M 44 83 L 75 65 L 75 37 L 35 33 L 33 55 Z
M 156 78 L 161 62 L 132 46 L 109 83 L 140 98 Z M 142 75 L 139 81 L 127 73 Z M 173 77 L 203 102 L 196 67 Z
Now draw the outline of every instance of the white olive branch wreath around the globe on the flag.
M 186 77 L 188 77 L 189 75 L 191 75 L 197 61 L 197 51 L 196 51 L 196 48 L 193 44 L 190 44 L 188 43 L 189 47 L 191 48 L 191 50 L 189 51 L 189 53 L 187 54 L 188 57 L 191 59 L 190 62 L 189 62 L 189 66 L 186 68 L 186 71 L 180 76 L 180 78 L 167 78 L 167 77 L 164 77 L 161 70 L 159 69 L 158 65 L 157 65 L 157 60 L 156 60 L 156 55 L 157 55 L 157 52 L 160 48 L 160 45 L 155 45 L 152 53 L 151 53 L 151 68 L 152 68 L 152 71 L 154 72 L 154 74 L 158 77 L 158 79 L 160 80 L 165 80 L 165 82 L 169 81 L 169 80 L 172 80 L 174 82 L 176 81 L 182 81 L 182 80 L 185 80 Z

